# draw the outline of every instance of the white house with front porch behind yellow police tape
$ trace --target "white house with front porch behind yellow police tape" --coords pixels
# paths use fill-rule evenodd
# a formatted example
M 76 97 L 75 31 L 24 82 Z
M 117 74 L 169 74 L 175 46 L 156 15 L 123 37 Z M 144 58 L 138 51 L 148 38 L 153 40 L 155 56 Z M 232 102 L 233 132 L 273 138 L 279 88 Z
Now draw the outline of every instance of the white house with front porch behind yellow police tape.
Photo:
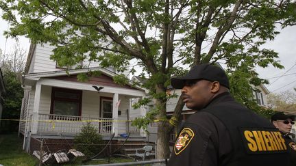
M 112 133 L 133 133 L 131 117 L 145 115 L 143 111 L 131 109 L 132 98 L 145 96 L 145 89 L 129 85 L 118 85 L 112 77 L 112 68 L 99 68 L 98 63 L 89 68 L 66 71 L 50 59 L 53 46 L 31 44 L 25 74 L 23 75 L 24 97 L 20 116 L 19 132 L 24 135 L 23 148 L 34 150 L 32 140 L 73 139 L 87 121 L 92 122 L 103 138 Z M 97 77 L 88 81 L 77 81 L 77 74 L 89 70 L 99 71 Z

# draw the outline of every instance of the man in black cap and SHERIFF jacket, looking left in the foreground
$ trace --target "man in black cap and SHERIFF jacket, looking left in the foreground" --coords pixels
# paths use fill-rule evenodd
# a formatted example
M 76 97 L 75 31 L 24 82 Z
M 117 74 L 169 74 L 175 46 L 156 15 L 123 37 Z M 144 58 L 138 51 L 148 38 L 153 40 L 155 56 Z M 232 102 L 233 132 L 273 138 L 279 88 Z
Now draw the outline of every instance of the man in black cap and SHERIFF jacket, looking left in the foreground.
M 197 113 L 182 126 L 169 165 L 288 165 L 281 133 L 232 98 L 224 70 L 201 64 L 171 85 L 182 89 L 186 107 Z

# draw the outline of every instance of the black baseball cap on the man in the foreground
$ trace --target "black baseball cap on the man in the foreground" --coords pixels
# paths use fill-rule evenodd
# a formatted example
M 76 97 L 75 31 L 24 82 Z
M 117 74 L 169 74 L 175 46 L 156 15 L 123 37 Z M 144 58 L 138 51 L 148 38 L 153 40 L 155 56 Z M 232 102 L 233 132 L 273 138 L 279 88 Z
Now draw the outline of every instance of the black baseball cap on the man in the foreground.
M 182 89 L 186 80 L 205 79 L 208 81 L 218 81 L 224 87 L 230 89 L 227 75 L 222 68 L 210 64 L 200 64 L 194 66 L 184 77 L 171 79 L 171 85 L 175 89 Z

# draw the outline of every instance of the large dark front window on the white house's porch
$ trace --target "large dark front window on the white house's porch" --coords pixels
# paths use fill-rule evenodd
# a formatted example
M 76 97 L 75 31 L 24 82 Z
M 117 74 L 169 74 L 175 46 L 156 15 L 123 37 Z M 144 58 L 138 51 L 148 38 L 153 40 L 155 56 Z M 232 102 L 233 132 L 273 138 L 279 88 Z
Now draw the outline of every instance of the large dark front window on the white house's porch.
M 82 91 L 53 87 L 51 92 L 51 114 L 81 116 Z

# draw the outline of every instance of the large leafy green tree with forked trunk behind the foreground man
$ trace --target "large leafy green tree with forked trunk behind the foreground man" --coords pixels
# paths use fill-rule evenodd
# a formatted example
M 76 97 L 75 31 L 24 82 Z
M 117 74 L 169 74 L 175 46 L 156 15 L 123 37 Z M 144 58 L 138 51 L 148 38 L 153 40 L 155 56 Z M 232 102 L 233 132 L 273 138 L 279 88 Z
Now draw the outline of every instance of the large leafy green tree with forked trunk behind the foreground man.
M 255 66 L 282 68 L 277 53 L 262 44 L 279 33 L 276 24 L 295 25 L 296 17 L 291 0 L 7 0 L 0 8 L 12 25 L 7 36 L 51 43 L 51 58 L 61 66 L 88 59 L 119 71 L 131 68 L 132 74 L 142 68 L 159 119 L 166 118 L 169 79 L 186 72 L 184 66 L 222 62 L 233 77 L 234 96 L 249 102 L 249 83 L 266 83 Z M 175 119 L 184 105 L 178 103 Z M 158 158 L 169 157 L 171 128 L 168 121 L 158 123 Z

